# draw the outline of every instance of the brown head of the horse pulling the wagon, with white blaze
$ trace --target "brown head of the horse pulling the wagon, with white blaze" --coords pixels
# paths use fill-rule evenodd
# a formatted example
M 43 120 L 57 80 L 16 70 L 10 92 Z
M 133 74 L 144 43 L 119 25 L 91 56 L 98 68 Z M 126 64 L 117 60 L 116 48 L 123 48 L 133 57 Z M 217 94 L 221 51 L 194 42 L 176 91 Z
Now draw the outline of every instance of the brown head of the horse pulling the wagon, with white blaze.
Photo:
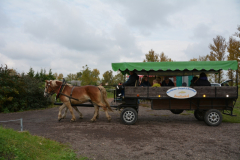
M 56 91 L 59 88 L 59 85 L 61 85 L 61 81 L 57 80 L 46 80 L 45 81 L 45 89 L 44 89 L 44 97 L 48 97 L 56 93 Z

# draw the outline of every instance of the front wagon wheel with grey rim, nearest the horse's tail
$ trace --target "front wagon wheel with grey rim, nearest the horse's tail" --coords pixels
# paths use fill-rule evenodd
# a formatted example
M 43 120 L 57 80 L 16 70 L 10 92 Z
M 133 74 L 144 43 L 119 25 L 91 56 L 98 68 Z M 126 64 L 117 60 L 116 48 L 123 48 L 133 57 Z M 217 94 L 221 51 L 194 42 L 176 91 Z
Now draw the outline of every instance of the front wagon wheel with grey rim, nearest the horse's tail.
M 123 124 L 127 124 L 127 125 L 135 124 L 138 119 L 137 111 L 133 108 L 125 108 L 121 112 L 120 119 Z

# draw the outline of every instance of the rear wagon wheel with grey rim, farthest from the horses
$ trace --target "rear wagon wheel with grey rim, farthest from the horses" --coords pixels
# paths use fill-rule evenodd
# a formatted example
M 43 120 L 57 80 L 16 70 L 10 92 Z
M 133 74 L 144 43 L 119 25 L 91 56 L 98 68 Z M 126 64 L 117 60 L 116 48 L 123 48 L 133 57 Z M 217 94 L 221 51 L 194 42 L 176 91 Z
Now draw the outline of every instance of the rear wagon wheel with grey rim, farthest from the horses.
M 209 126 L 218 126 L 222 123 L 222 114 L 217 109 L 210 109 L 205 113 L 204 121 Z

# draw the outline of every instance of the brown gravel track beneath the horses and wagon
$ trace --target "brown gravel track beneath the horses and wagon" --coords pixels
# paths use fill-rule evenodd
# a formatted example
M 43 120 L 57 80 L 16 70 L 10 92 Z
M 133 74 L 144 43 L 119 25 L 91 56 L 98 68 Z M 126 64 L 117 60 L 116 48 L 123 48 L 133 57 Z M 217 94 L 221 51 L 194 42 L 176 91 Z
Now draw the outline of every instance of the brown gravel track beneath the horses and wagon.
M 24 130 L 62 143 L 70 143 L 78 155 L 90 159 L 240 159 L 240 124 L 209 127 L 190 113 L 139 108 L 135 125 L 120 123 L 120 113 L 105 113 L 92 123 L 93 108 L 79 107 L 84 119 L 57 121 L 58 107 L 0 114 L 0 121 L 23 118 Z M 75 112 L 76 117 L 78 117 Z M 20 130 L 19 122 L 0 125 Z

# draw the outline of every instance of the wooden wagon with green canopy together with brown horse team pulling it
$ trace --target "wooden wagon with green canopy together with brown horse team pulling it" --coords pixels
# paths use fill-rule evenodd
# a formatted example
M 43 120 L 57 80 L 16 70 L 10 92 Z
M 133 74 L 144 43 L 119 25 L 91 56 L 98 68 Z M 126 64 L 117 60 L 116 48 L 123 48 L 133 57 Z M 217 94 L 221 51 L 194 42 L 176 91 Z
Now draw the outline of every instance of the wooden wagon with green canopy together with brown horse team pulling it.
M 194 116 L 197 120 L 205 121 L 207 125 L 218 126 L 222 122 L 223 114 L 233 115 L 233 108 L 238 98 L 238 62 L 237 61 L 189 61 L 189 62 L 124 62 L 112 63 L 114 71 L 121 71 L 127 74 L 134 71 L 138 75 L 157 75 L 157 76 L 193 76 L 201 72 L 206 74 L 218 74 L 220 71 L 236 71 L 236 86 L 178 86 L 178 87 L 140 87 L 125 86 L 116 87 L 114 91 L 114 100 L 111 103 L 112 108 L 121 110 L 120 119 L 124 124 L 132 125 L 137 122 L 139 100 L 148 100 L 151 102 L 153 110 L 170 110 L 174 114 L 180 114 L 184 110 L 194 110 Z M 55 85 L 53 84 L 55 83 Z M 189 86 L 189 85 L 188 85 Z M 95 121 L 98 117 L 99 106 L 103 107 L 106 117 L 111 120 L 107 110 L 111 110 L 106 103 L 106 90 L 99 86 L 76 87 L 66 85 L 64 91 L 60 81 L 46 81 L 45 95 L 58 93 L 64 103 L 55 103 L 62 105 L 59 109 L 58 119 L 65 117 L 61 115 L 61 110 L 68 108 L 72 114 L 72 121 L 75 116 L 72 107 L 82 117 L 81 112 L 76 106 L 94 107 L 94 116 L 91 119 Z M 93 94 L 94 93 L 94 94 Z M 119 94 L 121 93 L 121 94 Z M 92 104 L 84 102 L 90 101 Z

